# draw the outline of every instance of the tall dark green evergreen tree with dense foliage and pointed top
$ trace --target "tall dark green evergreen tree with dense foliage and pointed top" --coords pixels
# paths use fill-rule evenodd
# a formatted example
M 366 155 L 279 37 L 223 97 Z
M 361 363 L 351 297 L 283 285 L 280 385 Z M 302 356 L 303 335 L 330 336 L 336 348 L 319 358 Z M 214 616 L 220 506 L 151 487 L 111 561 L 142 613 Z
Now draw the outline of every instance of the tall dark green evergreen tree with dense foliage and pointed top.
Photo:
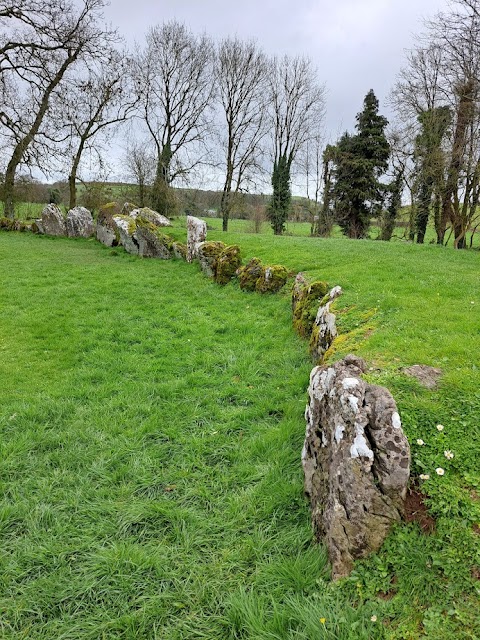
M 378 113 L 378 100 L 370 90 L 357 114 L 357 133 L 345 133 L 337 143 L 334 171 L 335 213 L 349 238 L 365 238 L 370 218 L 385 198 L 380 177 L 388 167 L 390 145 L 385 135 L 387 119 Z

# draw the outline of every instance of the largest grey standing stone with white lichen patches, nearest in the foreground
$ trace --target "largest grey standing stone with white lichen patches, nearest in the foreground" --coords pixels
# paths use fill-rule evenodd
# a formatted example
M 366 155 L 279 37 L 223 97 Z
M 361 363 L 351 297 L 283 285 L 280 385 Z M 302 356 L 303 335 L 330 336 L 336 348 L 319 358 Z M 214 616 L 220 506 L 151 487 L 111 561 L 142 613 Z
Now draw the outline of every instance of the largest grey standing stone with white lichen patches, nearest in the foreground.
M 378 550 L 403 515 L 410 448 L 390 392 L 360 377 L 365 362 L 347 356 L 310 375 L 302 451 L 305 492 L 316 536 L 334 578 Z

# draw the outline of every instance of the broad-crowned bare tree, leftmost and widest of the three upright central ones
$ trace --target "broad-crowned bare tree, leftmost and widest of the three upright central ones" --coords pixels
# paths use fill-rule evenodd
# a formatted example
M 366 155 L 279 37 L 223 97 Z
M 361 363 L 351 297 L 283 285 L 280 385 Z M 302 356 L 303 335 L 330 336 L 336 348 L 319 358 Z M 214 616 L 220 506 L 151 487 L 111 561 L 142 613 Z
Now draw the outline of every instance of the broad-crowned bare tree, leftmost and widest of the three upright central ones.
M 213 45 L 184 25 L 153 27 L 137 56 L 135 81 L 141 96 L 140 117 L 156 149 L 153 206 L 168 214 L 171 183 L 199 162 L 198 145 L 210 126 L 213 95 Z

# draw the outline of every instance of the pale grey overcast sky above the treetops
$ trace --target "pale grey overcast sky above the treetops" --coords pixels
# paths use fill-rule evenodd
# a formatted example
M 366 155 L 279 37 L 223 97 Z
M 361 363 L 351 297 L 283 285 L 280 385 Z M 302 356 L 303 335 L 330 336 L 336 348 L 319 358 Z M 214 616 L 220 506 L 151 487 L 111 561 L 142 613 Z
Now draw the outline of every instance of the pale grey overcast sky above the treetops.
M 327 135 L 352 129 L 369 89 L 386 97 L 422 20 L 448 0 L 111 0 L 106 18 L 129 44 L 175 18 L 215 39 L 255 39 L 269 54 L 306 54 L 327 87 Z

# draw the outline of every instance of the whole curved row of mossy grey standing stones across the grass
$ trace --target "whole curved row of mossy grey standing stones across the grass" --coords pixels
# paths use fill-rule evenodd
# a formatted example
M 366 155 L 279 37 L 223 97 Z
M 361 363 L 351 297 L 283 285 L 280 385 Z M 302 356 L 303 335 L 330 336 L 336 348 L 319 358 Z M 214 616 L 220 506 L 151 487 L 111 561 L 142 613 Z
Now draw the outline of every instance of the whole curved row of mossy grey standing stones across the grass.
M 188 216 L 187 244 L 163 232 L 165 216 L 125 203 L 91 213 L 76 207 L 66 218 L 48 205 L 33 231 L 48 235 L 96 238 L 109 247 L 159 259 L 198 260 L 203 273 L 219 284 L 237 277 L 246 291 L 280 290 L 289 277 L 281 265 L 262 265 L 253 258 L 242 266 L 237 245 L 207 241 L 207 225 Z M 309 339 L 315 363 L 322 363 L 337 337 L 331 306 L 341 295 L 325 282 L 309 283 L 298 274 L 292 290 L 293 324 Z M 410 476 L 410 449 L 397 406 L 384 387 L 362 379 L 365 362 L 349 355 L 333 365 L 318 364 L 310 374 L 302 450 L 305 493 L 312 524 L 326 543 L 333 578 L 347 576 L 355 559 L 377 551 L 391 524 L 401 520 Z

